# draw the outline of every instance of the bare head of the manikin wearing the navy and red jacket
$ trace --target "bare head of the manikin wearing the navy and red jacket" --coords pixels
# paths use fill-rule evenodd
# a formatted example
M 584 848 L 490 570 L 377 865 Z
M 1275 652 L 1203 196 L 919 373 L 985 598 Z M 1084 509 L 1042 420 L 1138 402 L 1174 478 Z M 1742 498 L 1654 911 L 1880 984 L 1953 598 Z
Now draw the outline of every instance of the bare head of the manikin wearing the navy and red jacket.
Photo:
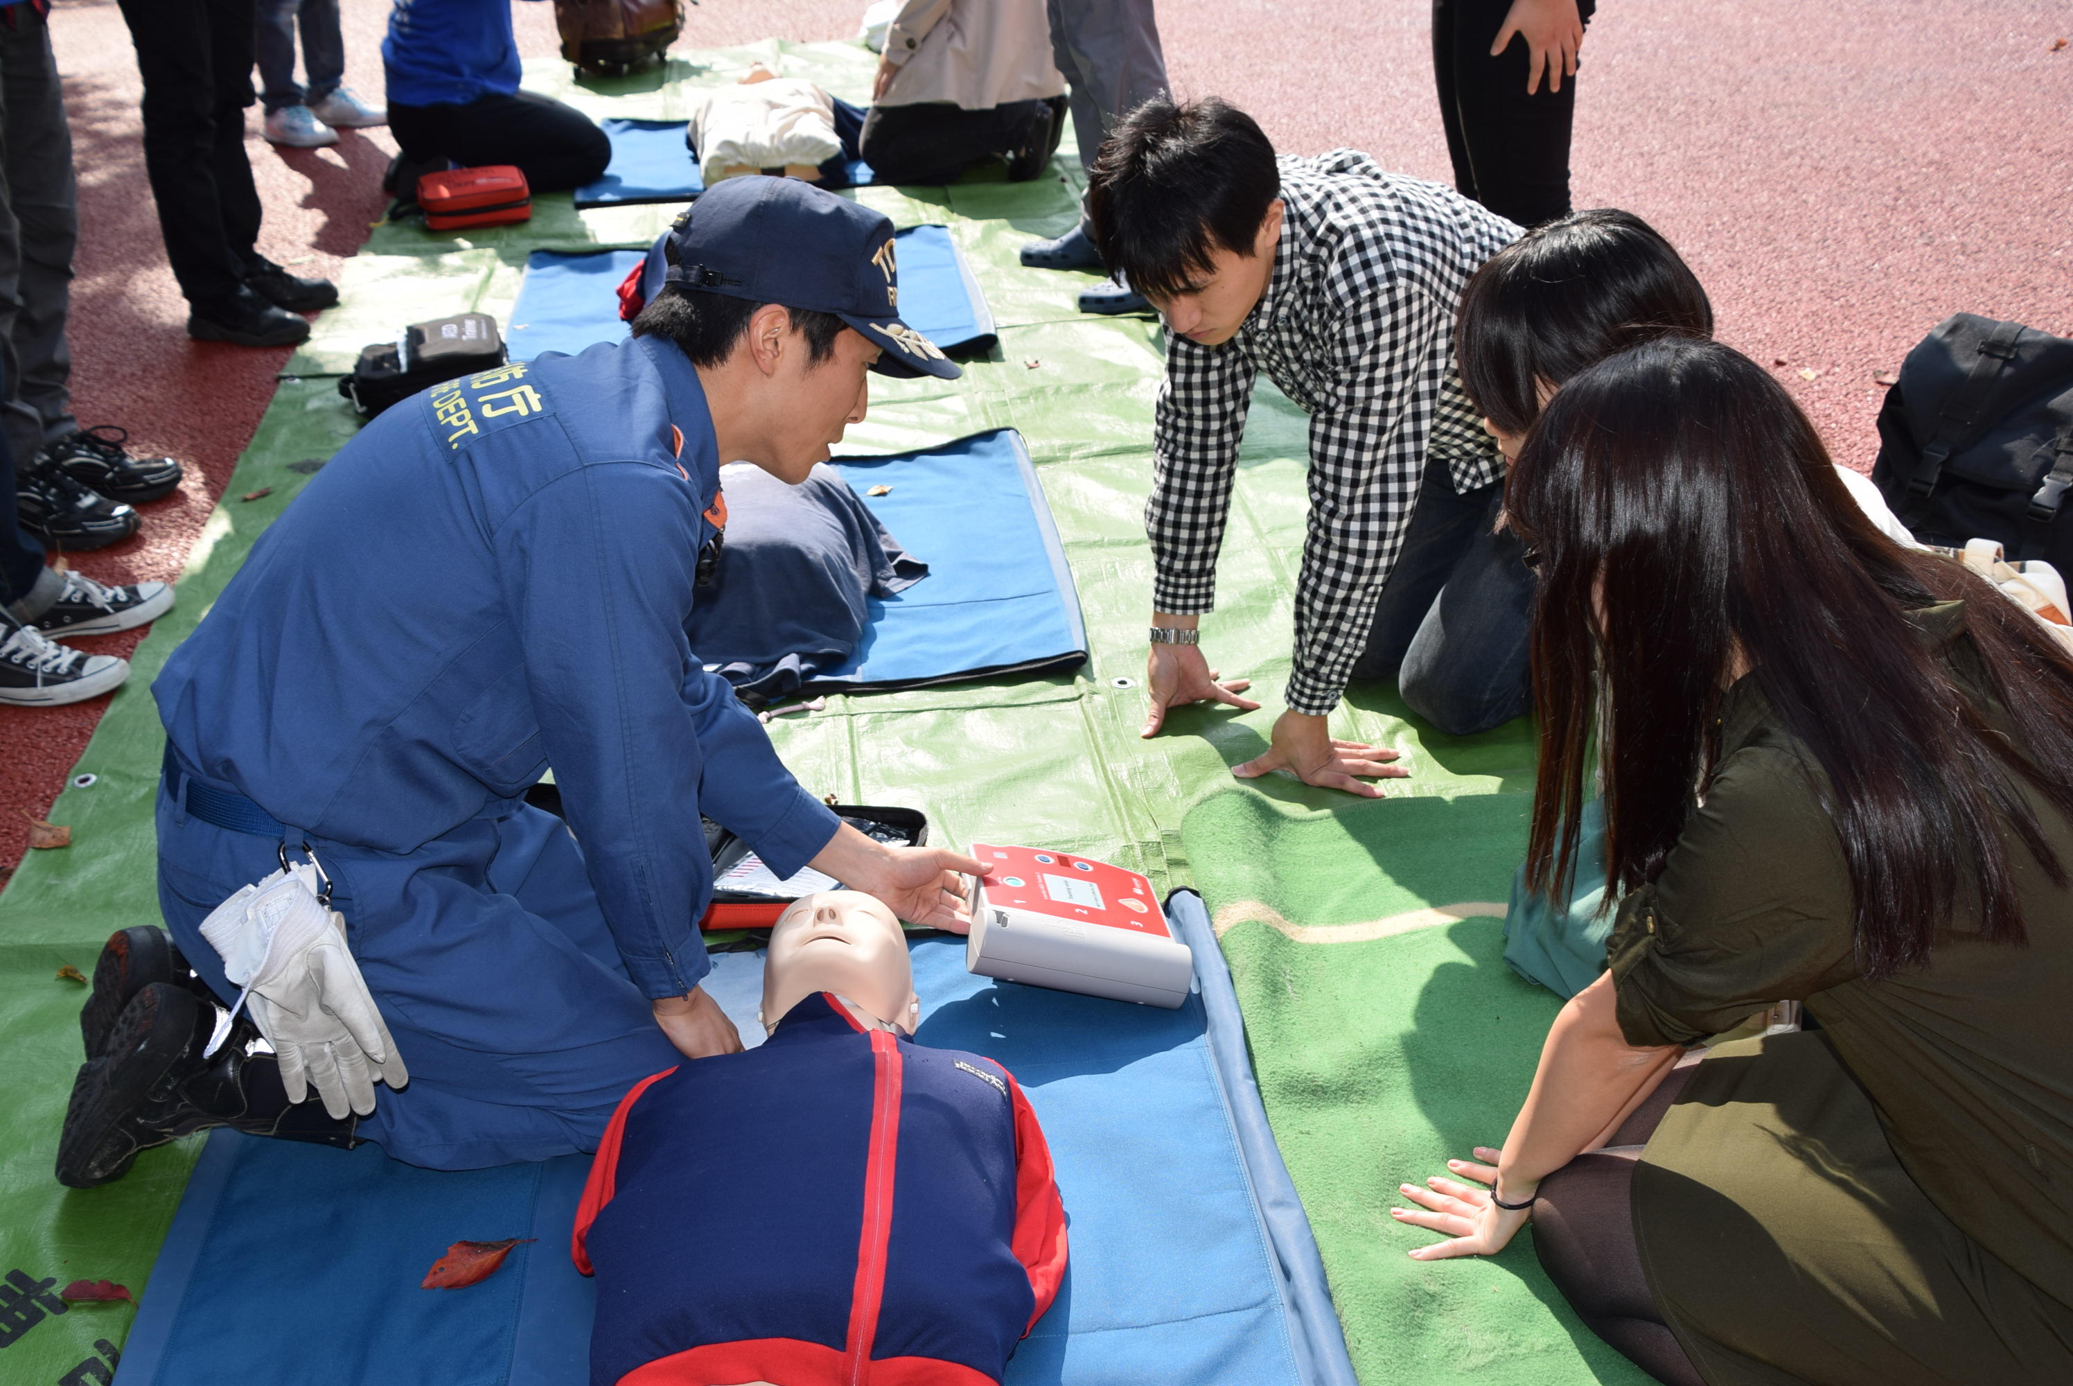
M 777 915 L 763 961 L 763 1027 L 773 1029 L 815 992 L 833 992 L 867 1023 L 914 1033 L 920 1002 L 914 998 L 906 934 L 873 896 L 823 890 Z

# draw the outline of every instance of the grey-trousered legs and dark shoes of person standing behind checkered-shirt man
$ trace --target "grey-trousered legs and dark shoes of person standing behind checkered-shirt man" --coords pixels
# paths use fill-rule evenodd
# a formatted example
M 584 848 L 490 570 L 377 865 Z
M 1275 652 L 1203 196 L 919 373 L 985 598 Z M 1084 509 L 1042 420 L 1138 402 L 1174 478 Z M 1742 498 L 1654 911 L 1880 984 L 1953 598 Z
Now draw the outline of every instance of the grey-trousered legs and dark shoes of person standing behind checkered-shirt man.
M 1072 89 L 1072 135 L 1080 145 L 1080 170 L 1095 170 L 1095 156 L 1117 116 L 1140 102 L 1163 95 L 1165 50 L 1153 0 L 1049 0 L 1051 60 Z M 1080 224 L 1055 241 L 1030 241 L 1022 264 L 1034 270 L 1103 270 L 1101 251 Z M 1109 266 L 1113 268 L 1113 266 Z M 1128 284 L 1109 278 L 1080 290 L 1082 313 L 1148 313 L 1151 303 Z

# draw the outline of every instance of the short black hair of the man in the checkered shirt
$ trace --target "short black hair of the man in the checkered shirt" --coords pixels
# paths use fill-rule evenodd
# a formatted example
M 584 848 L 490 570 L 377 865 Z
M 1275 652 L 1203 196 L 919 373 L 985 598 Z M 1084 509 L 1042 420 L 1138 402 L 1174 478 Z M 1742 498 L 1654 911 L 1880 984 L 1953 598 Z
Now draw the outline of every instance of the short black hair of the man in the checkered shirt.
M 1246 112 L 1209 95 L 1155 95 L 1109 131 L 1086 187 L 1086 220 L 1109 272 L 1171 299 L 1223 247 L 1250 255 L 1281 195 L 1275 147 Z

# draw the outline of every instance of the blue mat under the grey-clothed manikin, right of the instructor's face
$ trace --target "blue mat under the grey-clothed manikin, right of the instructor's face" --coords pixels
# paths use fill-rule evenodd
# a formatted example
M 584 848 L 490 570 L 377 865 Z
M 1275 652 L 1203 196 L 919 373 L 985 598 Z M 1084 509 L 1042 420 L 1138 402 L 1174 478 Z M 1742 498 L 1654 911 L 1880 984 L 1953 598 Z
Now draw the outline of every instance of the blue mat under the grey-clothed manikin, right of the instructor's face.
M 912 689 L 1086 662 L 1080 595 L 1022 434 L 997 427 L 833 467 L 929 577 L 871 598 L 856 654 L 808 689 Z M 873 496 L 877 486 L 891 490 Z

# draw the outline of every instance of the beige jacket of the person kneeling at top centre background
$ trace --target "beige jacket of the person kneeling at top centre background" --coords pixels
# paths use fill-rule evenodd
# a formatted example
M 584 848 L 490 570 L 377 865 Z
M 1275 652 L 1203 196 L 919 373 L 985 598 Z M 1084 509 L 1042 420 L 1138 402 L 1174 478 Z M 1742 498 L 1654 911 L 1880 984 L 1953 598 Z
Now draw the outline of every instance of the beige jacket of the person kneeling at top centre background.
M 885 31 L 885 60 L 900 71 L 879 106 L 989 110 L 1066 93 L 1045 0 L 906 0 Z

